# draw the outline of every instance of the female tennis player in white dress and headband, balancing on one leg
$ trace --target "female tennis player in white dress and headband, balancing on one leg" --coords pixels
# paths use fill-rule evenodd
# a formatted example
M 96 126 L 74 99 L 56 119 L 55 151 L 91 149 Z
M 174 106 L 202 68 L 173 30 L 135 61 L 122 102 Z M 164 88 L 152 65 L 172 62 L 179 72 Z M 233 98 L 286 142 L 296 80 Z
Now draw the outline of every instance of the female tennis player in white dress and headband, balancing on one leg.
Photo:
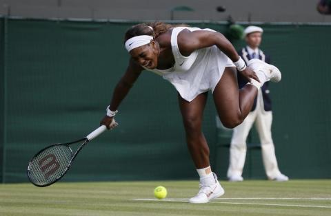
M 279 69 L 257 59 L 246 67 L 223 34 L 210 29 L 143 23 L 129 28 L 124 41 L 130 62 L 101 124 L 110 125 L 144 69 L 163 76 L 178 91 L 188 149 L 200 176 L 199 193 L 190 202 L 206 203 L 223 195 L 217 175 L 210 169 L 209 147 L 201 131 L 207 93 L 212 91 L 223 125 L 233 128 L 249 114 L 261 85 L 281 80 Z M 249 81 L 242 89 L 236 68 Z

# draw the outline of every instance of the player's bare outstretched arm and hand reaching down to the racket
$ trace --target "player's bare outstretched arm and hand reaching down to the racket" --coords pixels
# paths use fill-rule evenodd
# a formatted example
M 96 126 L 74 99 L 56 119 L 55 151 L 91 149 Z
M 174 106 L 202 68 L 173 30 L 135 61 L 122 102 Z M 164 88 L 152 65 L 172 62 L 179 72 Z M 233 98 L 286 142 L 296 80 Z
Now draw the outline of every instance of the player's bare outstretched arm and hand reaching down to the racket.
M 122 78 L 119 80 L 119 83 L 117 83 L 116 87 L 114 88 L 112 100 L 109 107 L 111 111 L 117 110 L 122 100 L 126 98 L 128 92 L 130 91 L 131 87 L 134 85 L 134 82 L 136 82 L 142 71 L 143 68 L 136 62 L 134 62 L 132 58 L 130 58 L 126 73 L 122 76 Z M 112 122 L 112 119 L 113 117 L 104 116 L 100 124 L 106 125 L 106 127 L 110 129 L 109 125 Z

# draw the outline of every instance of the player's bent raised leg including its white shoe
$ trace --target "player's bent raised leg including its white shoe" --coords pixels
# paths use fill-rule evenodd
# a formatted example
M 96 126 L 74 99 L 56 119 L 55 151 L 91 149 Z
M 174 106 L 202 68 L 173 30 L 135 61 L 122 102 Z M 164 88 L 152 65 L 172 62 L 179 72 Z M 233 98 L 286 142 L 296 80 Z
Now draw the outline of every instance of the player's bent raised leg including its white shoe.
M 243 88 L 239 89 L 237 83 L 237 72 L 234 67 L 225 67 L 223 76 L 214 89 L 214 102 L 223 125 L 234 128 L 248 116 L 252 110 L 257 90 L 266 81 L 277 83 L 281 80 L 281 72 L 277 67 L 264 63 L 259 59 L 252 59 L 248 67 L 259 77 L 261 83 L 252 80 Z

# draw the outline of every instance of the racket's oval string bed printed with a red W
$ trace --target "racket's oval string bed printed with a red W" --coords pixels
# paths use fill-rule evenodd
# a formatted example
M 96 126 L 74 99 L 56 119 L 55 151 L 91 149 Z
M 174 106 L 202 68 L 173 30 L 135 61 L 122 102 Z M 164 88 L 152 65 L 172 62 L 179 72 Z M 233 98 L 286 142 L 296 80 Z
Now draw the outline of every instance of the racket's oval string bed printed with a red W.
M 68 169 L 72 156 L 67 145 L 55 145 L 41 151 L 29 164 L 31 182 L 44 186 L 57 181 Z

